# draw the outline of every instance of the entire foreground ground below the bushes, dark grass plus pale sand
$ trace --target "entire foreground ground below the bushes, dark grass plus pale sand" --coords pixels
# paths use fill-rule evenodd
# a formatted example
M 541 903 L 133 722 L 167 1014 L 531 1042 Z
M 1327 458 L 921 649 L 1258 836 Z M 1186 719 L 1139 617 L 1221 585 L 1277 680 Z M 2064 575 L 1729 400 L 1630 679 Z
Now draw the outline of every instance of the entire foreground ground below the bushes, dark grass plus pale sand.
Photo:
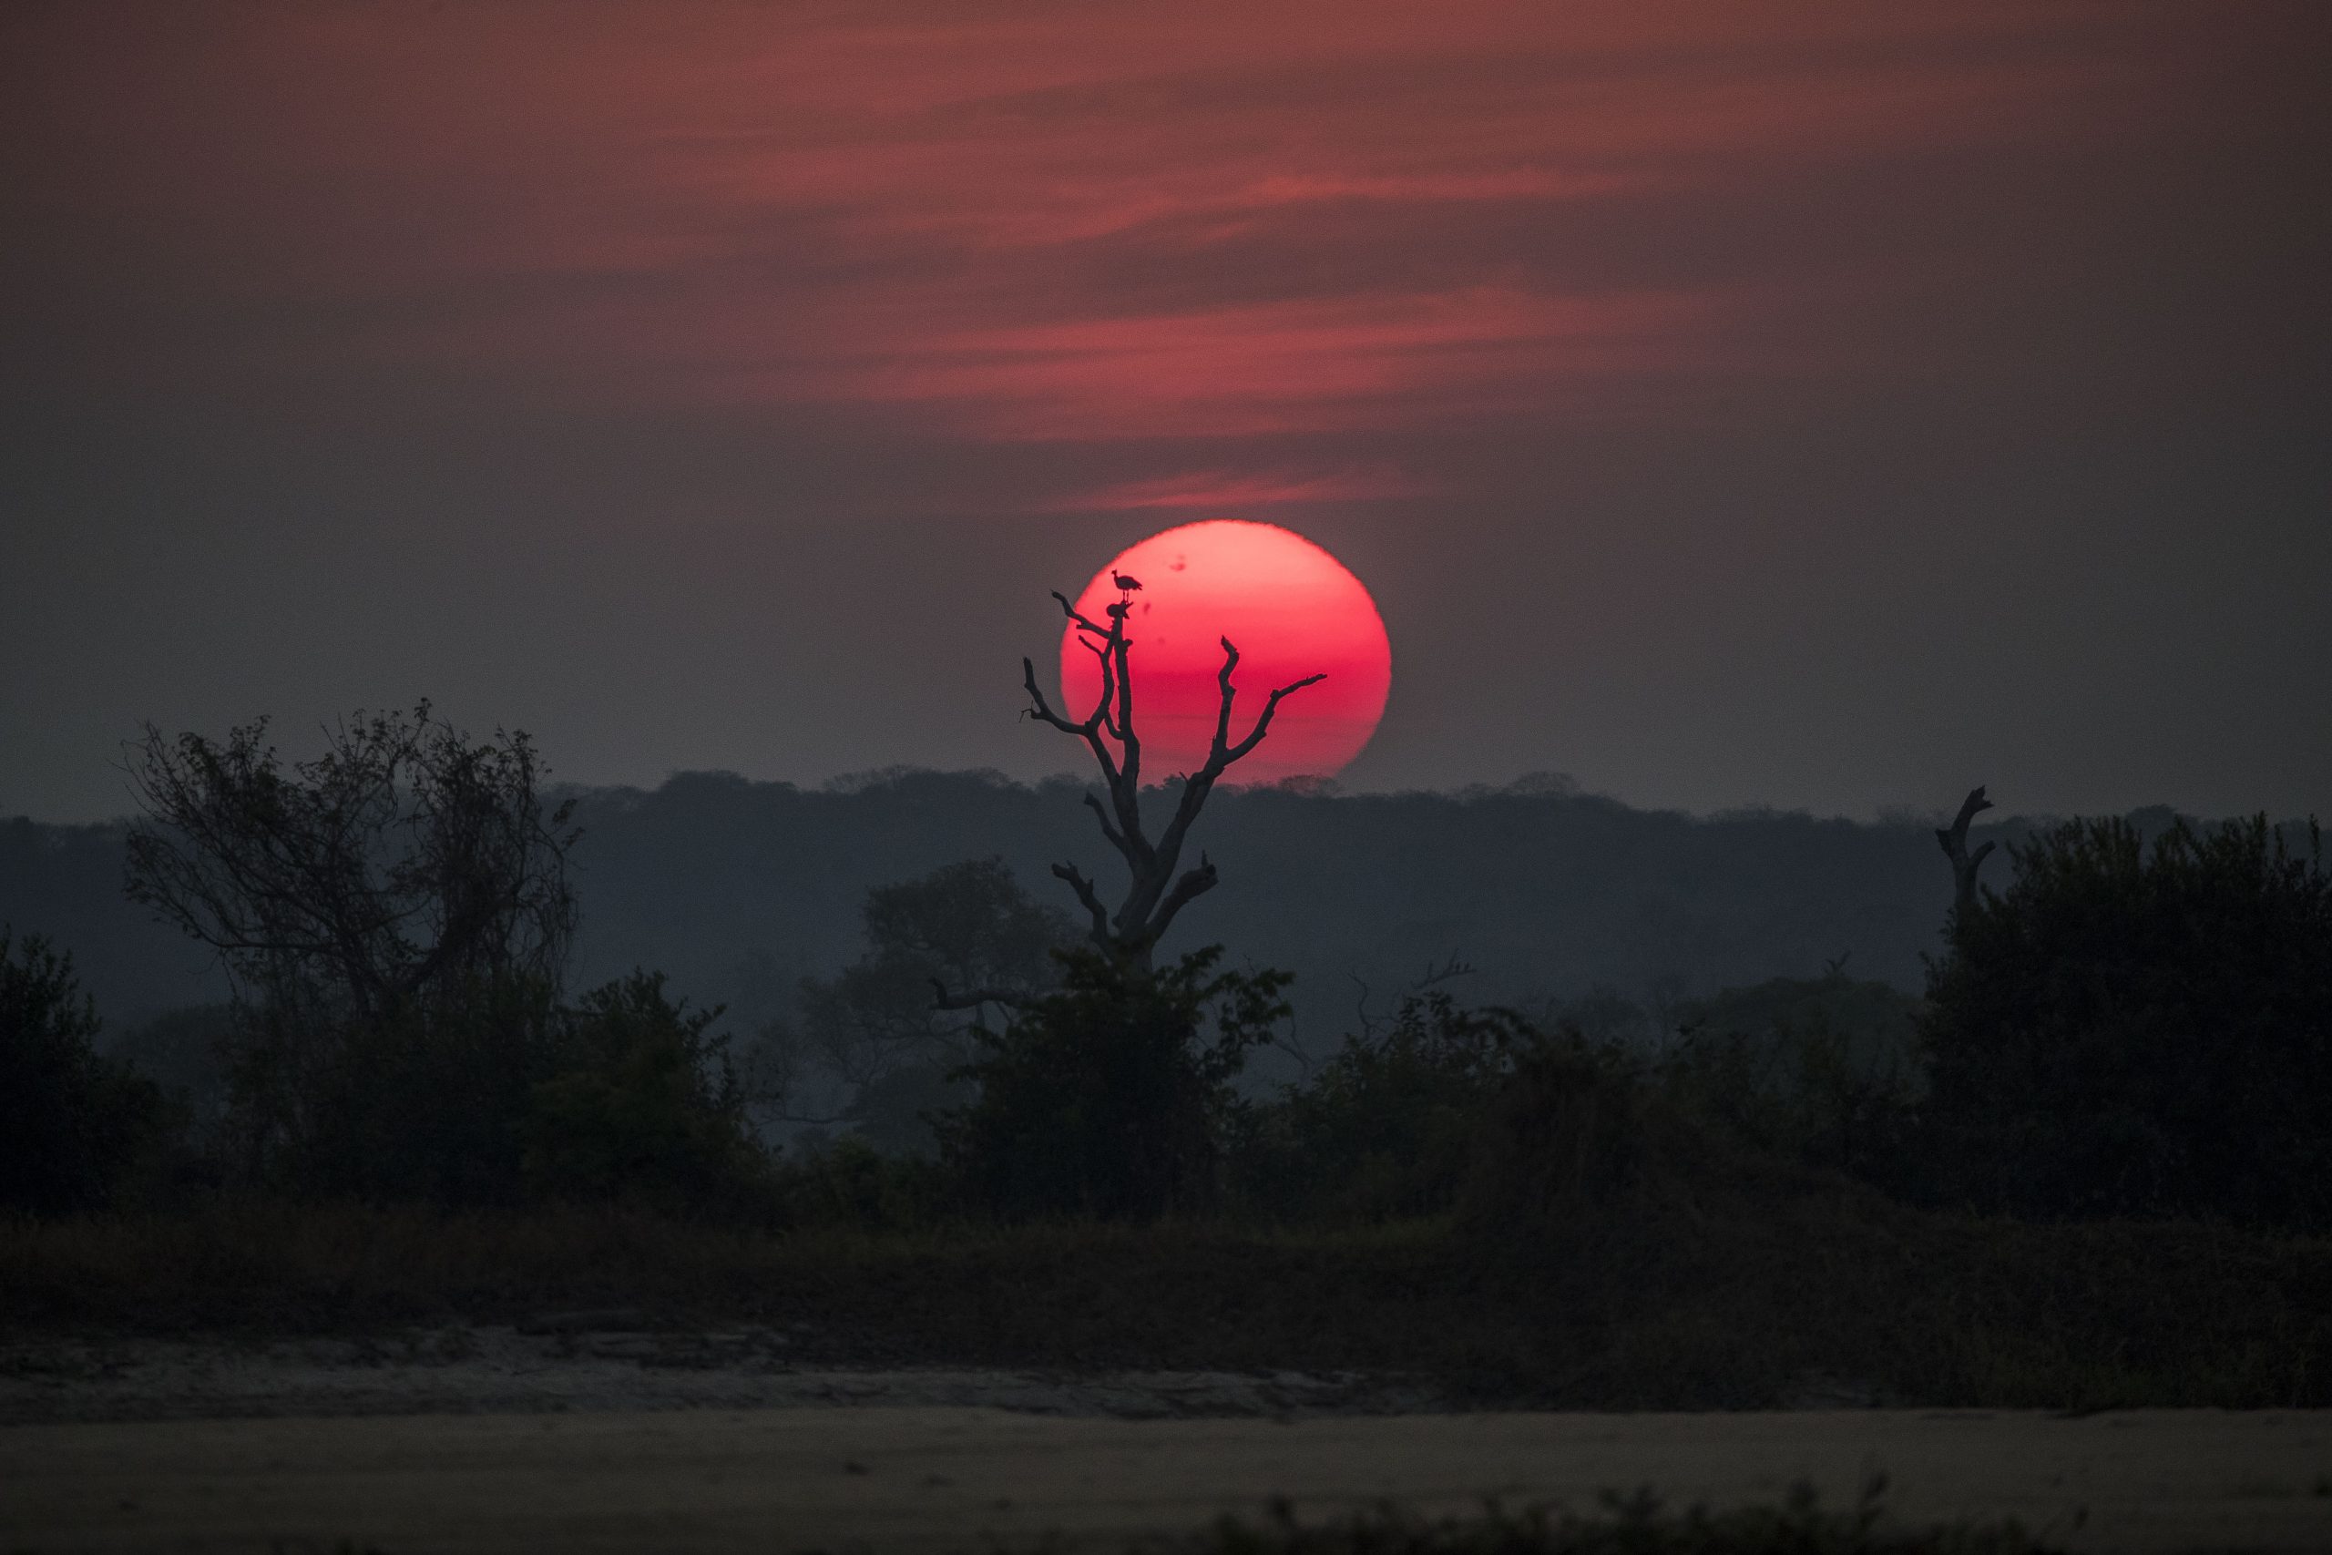
M 1737 1208 L 1530 1238 L 0 1224 L 0 1550 L 2332 1550 L 2332 1243 Z M 1273 1497 L 1742 1508 L 1803 1480 L 1845 1515 L 1877 1473 L 1894 1543 L 1681 1513 L 1658 1541 L 1192 1543 Z

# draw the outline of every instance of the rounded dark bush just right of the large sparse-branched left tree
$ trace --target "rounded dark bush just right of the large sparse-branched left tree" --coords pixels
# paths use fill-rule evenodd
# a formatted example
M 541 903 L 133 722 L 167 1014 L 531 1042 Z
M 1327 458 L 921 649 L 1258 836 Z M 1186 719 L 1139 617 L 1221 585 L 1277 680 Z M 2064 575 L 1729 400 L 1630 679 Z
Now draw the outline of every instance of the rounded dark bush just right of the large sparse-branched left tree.
M 718 1016 L 672 1002 L 660 972 L 585 993 L 562 1016 L 560 1072 L 527 1100 L 527 1189 L 681 1212 L 765 1198 L 767 1159 L 746 1126 L 728 1042 L 709 1035 Z

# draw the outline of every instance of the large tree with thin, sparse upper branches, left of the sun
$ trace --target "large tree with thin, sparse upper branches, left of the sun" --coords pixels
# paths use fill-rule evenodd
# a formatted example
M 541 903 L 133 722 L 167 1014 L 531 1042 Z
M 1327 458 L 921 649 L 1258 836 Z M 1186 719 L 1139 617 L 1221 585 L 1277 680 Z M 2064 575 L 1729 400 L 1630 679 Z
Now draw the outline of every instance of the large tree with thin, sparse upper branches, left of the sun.
M 569 807 L 525 734 L 429 704 L 357 713 L 285 765 L 266 720 L 147 727 L 128 895 L 236 986 L 231 1168 L 282 1189 L 441 1203 L 520 1191 L 518 1119 L 560 1072 Z

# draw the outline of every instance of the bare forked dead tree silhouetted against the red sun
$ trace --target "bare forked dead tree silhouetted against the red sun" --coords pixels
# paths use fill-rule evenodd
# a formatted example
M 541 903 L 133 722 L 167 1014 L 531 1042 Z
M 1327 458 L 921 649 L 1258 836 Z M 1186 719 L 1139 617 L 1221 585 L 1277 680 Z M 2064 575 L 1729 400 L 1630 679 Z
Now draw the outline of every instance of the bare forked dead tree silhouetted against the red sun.
M 1222 669 L 1215 676 L 1220 685 L 1220 702 L 1215 709 L 1215 737 L 1208 744 L 1206 762 L 1182 776 L 1182 793 L 1175 797 L 1173 816 L 1166 821 L 1166 830 L 1150 839 L 1143 825 L 1140 788 L 1143 788 L 1143 741 L 1133 727 L 1133 667 L 1131 667 L 1131 641 L 1126 639 L 1126 615 L 1131 613 L 1131 581 L 1119 581 L 1117 604 L 1112 604 L 1105 615 L 1108 625 L 1077 611 L 1068 601 L 1068 594 L 1054 592 L 1061 601 L 1061 611 L 1077 629 L 1077 641 L 1091 653 L 1101 664 L 1101 695 L 1094 697 L 1094 709 L 1077 720 L 1063 718 L 1045 702 L 1045 692 L 1035 683 L 1035 664 L 1021 660 L 1021 683 L 1028 690 L 1028 716 L 1038 723 L 1049 723 L 1063 734 L 1075 734 L 1084 741 L 1087 751 L 1094 753 L 1094 765 L 1101 767 L 1103 788 L 1108 790 L 1108 802 L 1096 793 L 1087 793 L 1084 802 L 1094 809 L 1101 821 L 1101 835 L 1108 837 L 1117 856 L 1126 860 L 1126 895 L 1110 912 L 1101 902 L 1101 893 L 1094 881 L 1084 877 L 1073 863 L 1054 865 L 1052 872 L 1068 881 L 1068 888 L 1077 893 L 1077 902 L 1091 923 L 1094 947 L 1115 961 L 1126 965 L 1147 968 L 1150 956 L 1157 949 L 1159 937 L 1173 923 L 1175 914 L 1189 907 L 1192 900 L 1206 895 L 1215 888 L 1217 874 L 1215 865 L 1206 853 L 1199 853 L 1199 865 L 1194 870 L 1180 870 L 1182 846 L 1189 839 L 1189 828 L 1199 821 L 1199 811 L 1206 807 L 1206 797 L 1215 793 L 1215 783 L 1222 774 L 1231 769 L 1234 762 L 1245 758 L 1255 746 L 1264 744 L 1264 734 L 1271 730 L 1271 718 L 1280 711 L 1280 702 L 1325 681 L 1325 674 L 1304 676 L 1280 685 L 1264 699 L 1264 711 L 1255 716 L 1255 727 L 1250 727 L 1241 739 L 1231 739 L 1231 704 L 1238 692 L 1231 685 L 1231 674 L 1238 669 L 1238 648 L 1231 639 L 1222 639 Z

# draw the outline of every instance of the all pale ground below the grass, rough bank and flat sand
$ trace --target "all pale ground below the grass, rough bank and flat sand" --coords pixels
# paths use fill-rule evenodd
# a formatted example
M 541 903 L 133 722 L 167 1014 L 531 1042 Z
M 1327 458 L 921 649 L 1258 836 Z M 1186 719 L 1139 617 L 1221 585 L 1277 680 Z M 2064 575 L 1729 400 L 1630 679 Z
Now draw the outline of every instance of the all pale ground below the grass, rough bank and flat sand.
M 1852 1504 L 1875 1471 L 1912 1522 L 2332 1550 L 2323 1413 L 1455 1413 L 1397 1378 L 849 1371 L 604 1315 L 0 1345 L 0 1550 L 1108 1548 L 1273 1497 L 1730 1506 L 1803 1478 Z

